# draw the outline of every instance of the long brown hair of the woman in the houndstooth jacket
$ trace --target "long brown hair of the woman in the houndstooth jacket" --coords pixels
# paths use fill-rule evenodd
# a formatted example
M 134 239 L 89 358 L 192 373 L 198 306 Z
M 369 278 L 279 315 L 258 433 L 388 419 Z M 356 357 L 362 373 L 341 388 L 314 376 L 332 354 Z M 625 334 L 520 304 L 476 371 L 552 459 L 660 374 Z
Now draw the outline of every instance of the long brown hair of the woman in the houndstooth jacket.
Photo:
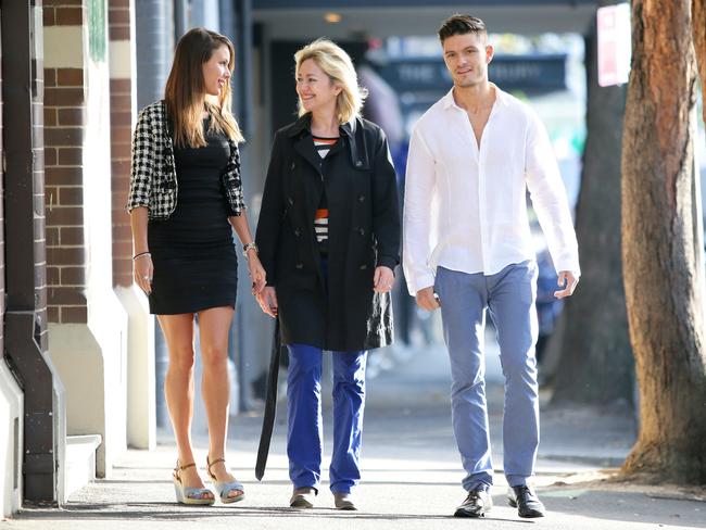
M 212 117 L 211 130 L 223 132 L 235 141 L 243 141 L 238 122 L 230 113 L 230 84 L 227 83 L 220 91 L 217 104 L 207 98 L 204 100 L 203 63 L 222 46 L 226 46 L 230 52 L 228 70 L 232 73 L 236 50 L 228 37 L 196 27 L 177 42 L 164 89 L 164 101 L 174 125 L 174 142 L 179 147 L 206 146 L 202 126 L 204 105 Z

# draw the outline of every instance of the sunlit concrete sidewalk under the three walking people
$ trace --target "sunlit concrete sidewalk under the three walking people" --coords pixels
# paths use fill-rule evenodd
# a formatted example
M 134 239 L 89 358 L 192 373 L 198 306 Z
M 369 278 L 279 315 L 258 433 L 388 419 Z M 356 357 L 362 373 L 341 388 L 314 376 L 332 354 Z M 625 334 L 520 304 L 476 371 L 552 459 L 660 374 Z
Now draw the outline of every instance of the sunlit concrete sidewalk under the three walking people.
M 327 482 L 312 510 L 287 507 L 291 487 L 285 451 L 285 413 L 280 408 L 262 483 L 254 462 L 262 417 L 239 416 L 231 421 L 228 462 L 243 481 L 247 499 L 231 506 L 186 507 L 174 503 L 171 469 L 175 449 L 161 444 L 154 452 L 130 451 L 113 476 L 76 493 L 63 509 L 25 509 L 0 528 L 9 529 L 310 529 L 310 528 L 517 528 L 547 529 L 704 528 L 703 491 L 636 488 L 603 481 L 606 466 L 618 465 L 634 441 L 634 424 L 620 411 L 563 409 L 542 414 L 542 444 L 534 483 L 550 512 L 544 519 L 524 520 L 505 501 L 500 425 L 502 387 L 489 384 L 491 434 L 495 467 L 489 517 L 455 519 L 454 508 L 465 492 L 464 476 L 449 411 L 447 371 L 443 351 L 419 352 L 395 370 L 368 381 L 360 512 L 332 508 Z M 489 378 L 492 380 L 492 378 Z M 325 464 L 330 455 L 330 416 L 325 418 Z M 205 462 L 205 438 L 196 437 Z M 205 472 L 202 472 L 205 477 Z M 328 478 L 325 469 L 324 478 Z

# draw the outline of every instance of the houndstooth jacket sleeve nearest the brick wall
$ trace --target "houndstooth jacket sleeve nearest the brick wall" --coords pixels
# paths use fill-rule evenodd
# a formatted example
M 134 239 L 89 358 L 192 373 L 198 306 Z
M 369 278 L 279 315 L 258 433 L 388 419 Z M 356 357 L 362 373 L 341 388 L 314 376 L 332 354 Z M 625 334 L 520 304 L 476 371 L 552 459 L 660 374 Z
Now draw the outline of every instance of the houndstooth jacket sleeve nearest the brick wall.
M 133 134 L 133 163 L 130 169 L 130 191 L 127 211 L 138 206 L 150 206 L 152 179 L 154 174 L 154 141 L 149 108 L 142 109 Z

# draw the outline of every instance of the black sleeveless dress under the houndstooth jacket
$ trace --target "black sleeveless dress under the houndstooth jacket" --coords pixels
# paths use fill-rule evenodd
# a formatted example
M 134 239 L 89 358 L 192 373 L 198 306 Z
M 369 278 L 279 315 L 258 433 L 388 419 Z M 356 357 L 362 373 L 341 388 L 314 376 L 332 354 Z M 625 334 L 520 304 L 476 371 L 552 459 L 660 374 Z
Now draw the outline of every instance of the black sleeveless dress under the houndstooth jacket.
M 206 147 L 174 148 L 177 206 L 166 220 L 150 220 L 154 275 L 150 313 L 178 315 L 236 305 L 238 257 L 220 175 L 230 148 L 225 135 L 203 128 Z

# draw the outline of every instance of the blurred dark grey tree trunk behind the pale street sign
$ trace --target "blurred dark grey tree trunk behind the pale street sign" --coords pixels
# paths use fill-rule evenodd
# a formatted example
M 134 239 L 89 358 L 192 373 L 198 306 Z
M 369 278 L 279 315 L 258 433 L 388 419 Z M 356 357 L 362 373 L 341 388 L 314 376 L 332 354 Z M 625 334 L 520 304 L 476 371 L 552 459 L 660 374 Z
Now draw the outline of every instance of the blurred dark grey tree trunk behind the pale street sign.
M 598 2 L 603 5 L 615 1 Z M 634 366 L 620 255 L 620 142 L 626 88 L 598 87 L 596 30 L 585 46 L 588 137 L 576 231 L 581 282 L 565 307 L 553 405 L 631 403 Z

